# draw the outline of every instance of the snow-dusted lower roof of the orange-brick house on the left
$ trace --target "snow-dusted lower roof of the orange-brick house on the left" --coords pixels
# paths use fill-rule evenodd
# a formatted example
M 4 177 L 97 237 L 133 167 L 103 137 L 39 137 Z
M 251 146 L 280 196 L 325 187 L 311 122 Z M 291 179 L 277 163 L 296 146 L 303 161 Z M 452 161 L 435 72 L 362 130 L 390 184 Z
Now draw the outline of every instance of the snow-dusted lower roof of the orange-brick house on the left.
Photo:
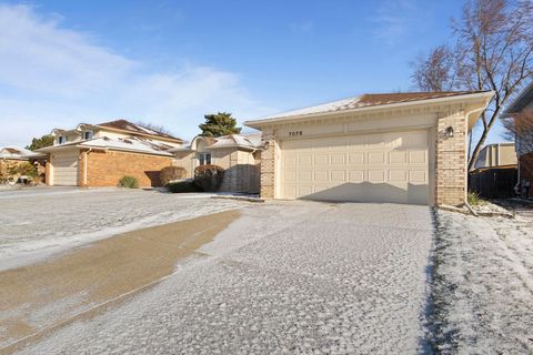
M 149 139 L 138 138 L 138 136 L 132 136 L 132 138 L 101 136 L 101 138 L 94 138 L 87 141 L 72 142 L 72 143 L 61 144 L 61 145 L 51 145 L 51 146 L 42 148 L 39 151 L 49 153 L 57 150 L 69 149 L 69 148 L 78 148 L 78 149 L 92 148 L 92 149 L 118 150 L 118 151 L 125 151 L 125 152 L 172 156 L 169 150 L 172 149 L 173 146 L 167 145 L 161 142 L 152 141 Z

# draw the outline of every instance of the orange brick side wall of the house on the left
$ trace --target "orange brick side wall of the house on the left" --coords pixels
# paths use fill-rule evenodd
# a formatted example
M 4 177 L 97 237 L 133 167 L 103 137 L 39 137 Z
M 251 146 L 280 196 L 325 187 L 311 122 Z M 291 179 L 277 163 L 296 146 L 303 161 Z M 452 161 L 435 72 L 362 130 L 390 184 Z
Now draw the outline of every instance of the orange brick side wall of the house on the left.
M 83 153 L 84 155 L 84 153 Z M 83 181 L 84 171 L 81 170 L 84 159 L 81 159 L 80 181 Z M 134 176 L 140 186 L 160 186 L 159 172 L 164 166 L 172 165 L 172 158 L 117 152 L 92 151 L 88 154 L 87 185 L 117 186 L 124 175 Z

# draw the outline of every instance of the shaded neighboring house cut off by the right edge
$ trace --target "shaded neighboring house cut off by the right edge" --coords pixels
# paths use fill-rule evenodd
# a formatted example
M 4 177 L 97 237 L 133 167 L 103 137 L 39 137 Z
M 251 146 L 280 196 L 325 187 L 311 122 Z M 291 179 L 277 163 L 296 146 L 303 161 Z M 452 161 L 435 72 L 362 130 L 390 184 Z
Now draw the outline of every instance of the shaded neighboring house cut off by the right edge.
M 527 115 L 527 116 L 525 116 Z M 533 81 L 505 108 L 502 118 L 514 116 L 522 134 L 515 136 L 515 151 L 519 163 L 517 192 L 524 197 L 533 197 Z M 526 121 L 527 120 L 527 121 Z

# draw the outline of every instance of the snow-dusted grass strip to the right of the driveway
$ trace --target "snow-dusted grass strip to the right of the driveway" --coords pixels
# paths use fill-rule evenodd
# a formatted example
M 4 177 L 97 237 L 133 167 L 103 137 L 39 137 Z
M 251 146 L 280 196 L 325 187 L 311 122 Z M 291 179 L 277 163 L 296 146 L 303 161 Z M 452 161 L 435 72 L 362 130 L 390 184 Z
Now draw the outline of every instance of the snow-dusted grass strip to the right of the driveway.
M 533 353 L 533 224 L 436 213 L 433 341 L 442 354 Z

